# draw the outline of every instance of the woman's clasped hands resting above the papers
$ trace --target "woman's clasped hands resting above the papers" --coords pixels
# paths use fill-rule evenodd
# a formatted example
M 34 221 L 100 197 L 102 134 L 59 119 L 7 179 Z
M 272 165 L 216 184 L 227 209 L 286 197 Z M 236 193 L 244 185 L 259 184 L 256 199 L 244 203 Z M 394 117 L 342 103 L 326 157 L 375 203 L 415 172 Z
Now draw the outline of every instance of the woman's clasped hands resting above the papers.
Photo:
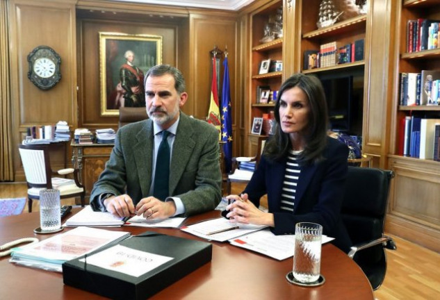
M 226 209 L 229 213 L 226 215 L 227 218 L 232 220 L 232 222 L 238 222 L 243 224 L 254 224 L 254 225 L 266 225 L 275 226 L 273 221 L 272 213 L 264 213 L 254 206 L 254 203 L 247 201 L 247 194 L 241 194 L 240 197 L 237 195 L 229 195 L 227 199 L 234 200 L 233 203 L 229 204 Z

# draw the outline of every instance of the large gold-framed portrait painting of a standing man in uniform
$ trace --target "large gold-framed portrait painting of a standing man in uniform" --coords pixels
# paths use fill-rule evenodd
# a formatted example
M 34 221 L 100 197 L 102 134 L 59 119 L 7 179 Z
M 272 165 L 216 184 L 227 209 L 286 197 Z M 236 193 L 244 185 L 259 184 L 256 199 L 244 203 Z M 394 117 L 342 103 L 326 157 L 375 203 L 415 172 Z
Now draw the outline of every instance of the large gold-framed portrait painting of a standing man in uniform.
M 145 106 L 144 75 L 162 63 L 162 37 L 99 33 L 101 116 Z

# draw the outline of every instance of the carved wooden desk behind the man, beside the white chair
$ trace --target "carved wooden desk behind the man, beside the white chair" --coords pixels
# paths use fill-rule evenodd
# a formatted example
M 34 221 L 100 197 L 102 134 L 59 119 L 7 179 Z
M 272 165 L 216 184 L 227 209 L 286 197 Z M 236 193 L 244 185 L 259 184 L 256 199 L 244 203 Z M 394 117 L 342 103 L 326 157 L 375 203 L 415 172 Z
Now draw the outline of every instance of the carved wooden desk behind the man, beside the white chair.
M 79 169 L 79 180 L 85 188 L 85 203 L 89 203 L 93 184 L 104 171 L 113 144 L 78 144 L 72 140 L 70 146 L 72 165 Z

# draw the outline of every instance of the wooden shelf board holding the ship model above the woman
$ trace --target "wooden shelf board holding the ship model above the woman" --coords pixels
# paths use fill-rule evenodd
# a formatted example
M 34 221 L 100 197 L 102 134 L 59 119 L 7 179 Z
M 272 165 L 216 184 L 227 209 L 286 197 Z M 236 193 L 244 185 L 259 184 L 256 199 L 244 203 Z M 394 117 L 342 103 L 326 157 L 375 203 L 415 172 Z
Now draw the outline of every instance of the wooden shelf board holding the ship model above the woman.
M 332 26 L 327 26 L 325 28 L 319 28 L 308 33 L 304 33 L 302 38 L 322 38 L 334 35 L 340 35 L 341 33 L 347 33 L 354 31 L 359 28 L 363 28 L 365 31 L 366 26 L 366 15 L 360 15 L 352 19 L 345 20 L 343 22 L 336 23 Z

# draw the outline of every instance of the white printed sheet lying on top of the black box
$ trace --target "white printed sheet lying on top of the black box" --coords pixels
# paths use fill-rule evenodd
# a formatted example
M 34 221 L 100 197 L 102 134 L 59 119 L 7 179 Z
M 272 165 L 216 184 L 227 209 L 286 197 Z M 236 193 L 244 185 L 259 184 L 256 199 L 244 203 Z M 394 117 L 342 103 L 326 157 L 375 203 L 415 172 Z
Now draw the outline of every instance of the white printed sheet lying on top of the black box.
M 92 256 L 88 256 L 86 263 L 88 265 L 95 265 L 111 271 L 139 277 L 172 259 L 174 258 L 131 249 L 117 244 L 95 253 Z M 84 258 L 81 258 L 80 261 L 85 263 Z

